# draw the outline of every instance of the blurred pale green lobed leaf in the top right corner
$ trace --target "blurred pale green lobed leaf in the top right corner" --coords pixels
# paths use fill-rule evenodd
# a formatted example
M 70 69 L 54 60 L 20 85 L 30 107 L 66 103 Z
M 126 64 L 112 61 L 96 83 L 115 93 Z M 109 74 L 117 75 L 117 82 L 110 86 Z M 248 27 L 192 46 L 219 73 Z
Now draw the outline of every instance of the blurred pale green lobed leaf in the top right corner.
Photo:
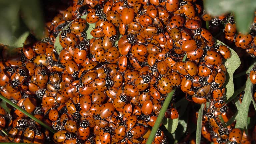
M 242 33 L 247 33 L 253 21 L 256 7 L 255 0 L 205 0 L 205 10 L 214 16 L 224 13 L 234 13 L 237 29 Z

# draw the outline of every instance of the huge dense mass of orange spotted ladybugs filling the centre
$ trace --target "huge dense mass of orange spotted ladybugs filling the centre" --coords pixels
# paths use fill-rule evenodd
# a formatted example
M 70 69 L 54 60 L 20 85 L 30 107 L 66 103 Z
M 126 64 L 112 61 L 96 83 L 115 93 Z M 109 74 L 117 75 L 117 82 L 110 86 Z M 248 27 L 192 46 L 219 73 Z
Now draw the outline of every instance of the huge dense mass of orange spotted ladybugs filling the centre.
M 203 128 L 211 125 L 216 139 L 209 141 L 239 143 L 238 130 L 217 117 L 228 113 L 222 59 L 231 53 L 202 28 L 201 13 L 196 0 L 74 0 L 46 23 L 41 41 L 28 39 L 15 55 L 3 51 L 1 94 L 57 131 L 50 136 L 12 109 L 4 116 L 13 121 L 5 124 L 8 140 L 145 144 L 165 97 L 179 89 L 188 101 L 211 102 Z M 95 28 L 86 33 L 89 24 Z M 179 117 L 174 103 L 165 117 Z M 154 143 L 168 143 L 162 130 Z

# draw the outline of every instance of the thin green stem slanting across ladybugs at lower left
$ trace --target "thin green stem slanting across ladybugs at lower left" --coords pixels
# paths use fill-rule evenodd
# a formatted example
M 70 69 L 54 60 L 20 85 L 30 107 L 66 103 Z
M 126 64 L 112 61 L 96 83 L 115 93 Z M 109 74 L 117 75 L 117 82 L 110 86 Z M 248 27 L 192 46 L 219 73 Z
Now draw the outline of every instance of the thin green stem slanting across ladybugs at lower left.
M 43 127 L 45 127 L 46 129 L 48 129 L 49 131 L 51 131 L 52 133 L 56 133 L 56 131 L 54 129 L 52 129 L 51 127 L 49 127 L 48 125 L 46 125 L 45 123 L 43 123 L 42 121 L 40 121 L 39 119 L 35 118 L 32 114 L 28 113 L 27 111 L 25 111 L 24 109 L 22 109 L 21 107 L 17 106 L 15 103 L 9 101 L 7 98 L 5 98 L 4 96 L 0 95 L 0 98 L 2 100 L 4 100 L 5 102 L 7 102 L 8 104 L 10 104 L 11 106 L 13 106 L 14 108 L 18 109 L 19 111 L 23 112 L 25 115 L 27 115 L 28 117 L 30 117 L 31 119 L 33 119 L 34 121 L 38 122 L 40 125 L 42 125 Z

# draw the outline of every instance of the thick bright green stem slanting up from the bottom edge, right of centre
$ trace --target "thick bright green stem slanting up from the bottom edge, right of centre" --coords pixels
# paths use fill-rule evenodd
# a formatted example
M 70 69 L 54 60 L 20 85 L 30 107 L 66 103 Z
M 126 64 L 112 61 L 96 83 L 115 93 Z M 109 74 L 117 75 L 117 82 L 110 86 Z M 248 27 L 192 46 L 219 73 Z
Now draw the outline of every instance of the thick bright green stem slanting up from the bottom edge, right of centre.
M 160 113 L 159 115 L 157 116 L 157 119 L 156 119 L 156 122 L 155 122 L 155 125 L 153 126 L 152 130 L 151 130 L 151 133 L 149 135 L 149 138 L 147 140 L 147 143 L 146 144 L 152 144 L 152 142 L 154 141 L 155 139 L 155 135 L 156 135 L 156 132 L 160 126 L 160 124 L 162 123 L 163 121 L 163 118 L 164 118 L 164 114 L 172 100 L 172 96 L 175 92 L 175 89 L 173 91 L 171 91 L 170 93 L 167 94 L 167 97 L 165 98 L 165 101 L 164 101 L 164 104 L 162 106 L 162 109 L 160 110 Z

